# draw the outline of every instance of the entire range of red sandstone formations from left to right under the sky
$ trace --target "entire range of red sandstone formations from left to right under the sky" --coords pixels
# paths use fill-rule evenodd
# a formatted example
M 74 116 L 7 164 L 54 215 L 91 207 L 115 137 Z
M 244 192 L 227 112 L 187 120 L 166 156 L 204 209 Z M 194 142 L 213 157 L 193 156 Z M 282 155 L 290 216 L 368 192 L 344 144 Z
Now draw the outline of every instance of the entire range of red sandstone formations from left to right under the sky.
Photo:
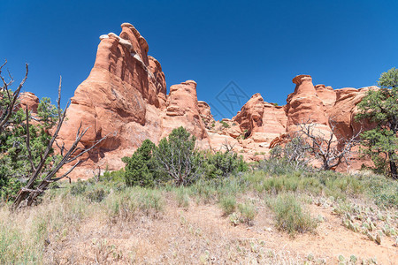
M 354 120 L 356 104 L 366 91 L 377 87 L 341 88 L 312 83 L 310 75 L 293 79 L 295 91 L 287 95 L 285 106 L 265 102 L 260 94 L 253 95 L 232 119 L 215 121 L 210 106 L 198 101 L 193 80 L 170 87 L 167 95 L 165 73 L 160 63 L 148 55 L 146 40 L 129 23 L 121 25 L 117 34 L 100 36 L 96 63 L 88 79 L 77 87 L 59 133 L 59 140 L 70 145 L 78 128 L 89 127 L 81 141 L 88 148 L 108 135 L 99 148 L 86 156 L 85 163 L 74 173 L 88 178 L 97 167 L 119 170 L 120 158 L 132 155 L 143 140 L 158 142 L 173 128 L 184 126 L 195 134 L 200 148 L 218 150 L 226 141 L 248 161 L 264 159 L 270 144 L 283 140 L 306 120 L 316 123 L 320 132 L 330 133 L 332 118 L 338 138 L 371 127 Z M 27 104 L 38 103 L 34 95 L 26 95 Z M 34 108 L 34 106 L 32 107 Z M 351 169 L 363 163 L 354 154 Z

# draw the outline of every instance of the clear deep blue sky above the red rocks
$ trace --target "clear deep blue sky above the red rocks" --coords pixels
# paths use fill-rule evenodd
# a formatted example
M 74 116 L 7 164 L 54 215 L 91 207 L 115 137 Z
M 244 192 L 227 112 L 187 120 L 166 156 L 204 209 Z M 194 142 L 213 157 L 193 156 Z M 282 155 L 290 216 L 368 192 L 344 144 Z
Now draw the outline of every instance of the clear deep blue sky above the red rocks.
M 0 60 L 17 80 L 29 63 L 25 90 L 39 97 L 55 99 L 62 75 L 66 100 L 88 77 L 98 37 L 130 22 L 162 64 L 167 87 L 194 79 L 199 100 L 231 117 L 217 98 L 228 84 L 279 105 L 297 74 L 333 88 L 375 85 L 398 66 L 397 14 L 398 1 L 378 0 L 2 0 Z

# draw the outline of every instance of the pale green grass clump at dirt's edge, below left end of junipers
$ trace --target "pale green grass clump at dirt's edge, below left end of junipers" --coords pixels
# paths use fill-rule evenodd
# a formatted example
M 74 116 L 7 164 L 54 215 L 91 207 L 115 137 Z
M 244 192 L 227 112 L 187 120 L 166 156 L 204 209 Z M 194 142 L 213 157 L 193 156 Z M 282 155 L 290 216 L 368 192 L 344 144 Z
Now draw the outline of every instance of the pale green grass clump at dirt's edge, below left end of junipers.
M 159 190 L 142 187 L 126 188 L 111 193 L 103 202 L 111 220 L 133 220 L 140 214 L 156 217 L 164 208 L 162 193 Z

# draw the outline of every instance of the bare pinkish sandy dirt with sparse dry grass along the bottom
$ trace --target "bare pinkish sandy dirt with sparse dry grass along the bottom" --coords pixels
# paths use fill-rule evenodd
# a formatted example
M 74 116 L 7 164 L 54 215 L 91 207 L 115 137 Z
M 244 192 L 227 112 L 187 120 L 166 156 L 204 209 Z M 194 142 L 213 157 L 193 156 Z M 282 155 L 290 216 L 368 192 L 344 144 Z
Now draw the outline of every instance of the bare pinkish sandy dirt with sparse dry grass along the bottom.
M 258 207 L 252 226 L 232 225 L 214 204 L 191 202 L 179 208 L 168 201 L 157 216 L 111 222 L 101 216 L 81 223 L 57 246 L 47 246 L 46 256 L 58 264 L 346 264 L 358 261 L 395 264 L 398 248 L 392 238 L 381 245 L 364 234 L 341 225 L 332 208 L 311 204 L 312 216 L 321 215 L 312 234 L 295 238 L 274 228 L 272 213 Z M 58 241 L 59 242 L 59 241 Z

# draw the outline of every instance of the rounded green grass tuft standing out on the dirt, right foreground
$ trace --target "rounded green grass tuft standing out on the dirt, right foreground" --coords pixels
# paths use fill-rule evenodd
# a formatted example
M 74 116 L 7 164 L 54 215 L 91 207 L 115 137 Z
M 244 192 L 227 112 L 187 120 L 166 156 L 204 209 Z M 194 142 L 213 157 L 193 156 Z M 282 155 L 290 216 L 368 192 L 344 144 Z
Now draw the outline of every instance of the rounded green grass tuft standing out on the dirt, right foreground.
M 302 208 L 293 193 L 279 194 L 267 204 L 275 213 L 275 225 L 279 231 L 287 231 L 294 236 L 297 232 L 314 231 L 317 227 L 316 221 Z

